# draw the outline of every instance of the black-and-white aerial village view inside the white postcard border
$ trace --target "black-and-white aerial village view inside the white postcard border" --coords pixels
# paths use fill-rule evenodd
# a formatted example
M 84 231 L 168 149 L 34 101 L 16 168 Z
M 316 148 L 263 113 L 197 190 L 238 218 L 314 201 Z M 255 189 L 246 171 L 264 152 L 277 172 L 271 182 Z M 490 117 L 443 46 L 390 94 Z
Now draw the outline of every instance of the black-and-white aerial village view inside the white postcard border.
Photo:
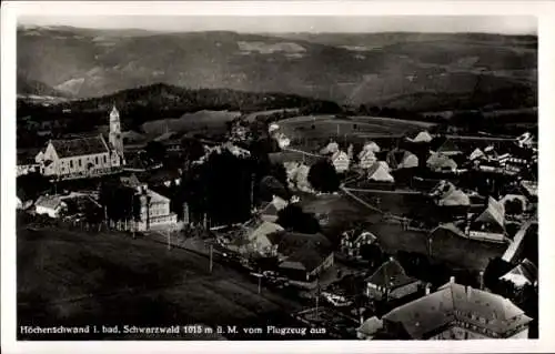
M 537 338 L 537 41 L 18 19 L 17 338 Z

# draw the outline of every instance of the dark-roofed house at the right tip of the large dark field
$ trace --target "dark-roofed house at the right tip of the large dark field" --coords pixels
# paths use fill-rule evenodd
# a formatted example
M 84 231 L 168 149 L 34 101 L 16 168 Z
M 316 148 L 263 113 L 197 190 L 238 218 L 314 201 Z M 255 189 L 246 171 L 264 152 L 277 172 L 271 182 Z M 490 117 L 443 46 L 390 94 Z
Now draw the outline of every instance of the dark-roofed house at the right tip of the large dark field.
M 275 247 L 280 273 L 291 280 L 313 282 L 333 265 L 332 245 L 320 233 L 278 232 L 268 237 Z

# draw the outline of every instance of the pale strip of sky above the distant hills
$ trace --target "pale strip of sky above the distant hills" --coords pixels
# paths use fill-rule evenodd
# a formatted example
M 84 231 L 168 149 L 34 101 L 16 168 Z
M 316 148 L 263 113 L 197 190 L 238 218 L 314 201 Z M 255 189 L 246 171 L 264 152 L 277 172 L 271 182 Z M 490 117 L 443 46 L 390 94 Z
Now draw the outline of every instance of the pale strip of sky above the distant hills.
M 535 34 L 535 17 L 524 16 L 380 16 L 380 17 L 191 17 L 191 16 L 65 16 L 19 18 L 26 26 L 71 26 L 153 31 L 274 32 L 483 32 Z

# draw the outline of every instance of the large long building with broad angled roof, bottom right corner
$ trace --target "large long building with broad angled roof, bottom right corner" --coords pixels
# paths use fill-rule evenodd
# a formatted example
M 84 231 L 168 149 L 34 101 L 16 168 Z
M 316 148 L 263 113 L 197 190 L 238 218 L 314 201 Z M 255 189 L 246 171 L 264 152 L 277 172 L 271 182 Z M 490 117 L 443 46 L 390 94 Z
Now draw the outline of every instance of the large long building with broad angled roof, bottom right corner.
M 382 317 L 383 331 L 397 340 L 527 338 L 532 318 L 509 300 L 454 277 L 436 292 Z

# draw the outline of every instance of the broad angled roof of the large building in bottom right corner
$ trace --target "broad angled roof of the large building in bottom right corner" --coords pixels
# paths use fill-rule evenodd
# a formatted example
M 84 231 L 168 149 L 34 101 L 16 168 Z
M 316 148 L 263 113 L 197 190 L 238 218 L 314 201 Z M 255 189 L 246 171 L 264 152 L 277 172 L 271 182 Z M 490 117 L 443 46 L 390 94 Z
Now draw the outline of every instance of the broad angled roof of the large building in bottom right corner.
M 485 318 L 485 323 L 474 316 Z M 430 295 L 396 307 L 383 320 L 401 323 L 415 340 L 426 338 L 454 320 L 500 334 L 532 321 L 509 300 L 456 283 L 447 283 Z

